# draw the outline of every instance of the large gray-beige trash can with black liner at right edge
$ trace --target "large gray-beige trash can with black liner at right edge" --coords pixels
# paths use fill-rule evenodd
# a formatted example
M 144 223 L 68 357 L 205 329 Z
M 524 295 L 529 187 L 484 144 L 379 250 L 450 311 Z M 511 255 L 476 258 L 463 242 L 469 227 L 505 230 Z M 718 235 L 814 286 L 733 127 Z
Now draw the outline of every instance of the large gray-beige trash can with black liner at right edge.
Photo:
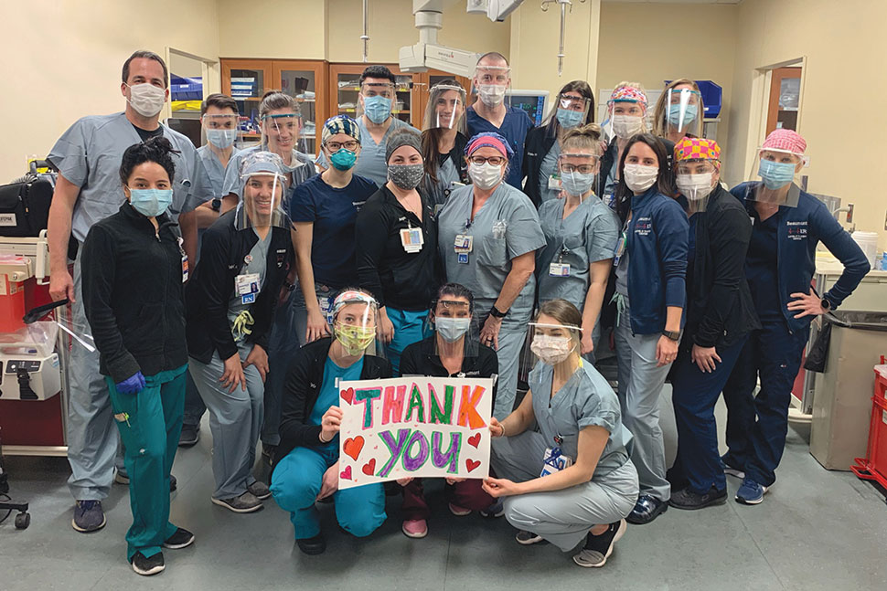
M 828 470 L 865 457 L 871 421 L 871 368 L 887 355 L 887 312 L 835 311 L 825 370 L 817 374 L 810 453 Z

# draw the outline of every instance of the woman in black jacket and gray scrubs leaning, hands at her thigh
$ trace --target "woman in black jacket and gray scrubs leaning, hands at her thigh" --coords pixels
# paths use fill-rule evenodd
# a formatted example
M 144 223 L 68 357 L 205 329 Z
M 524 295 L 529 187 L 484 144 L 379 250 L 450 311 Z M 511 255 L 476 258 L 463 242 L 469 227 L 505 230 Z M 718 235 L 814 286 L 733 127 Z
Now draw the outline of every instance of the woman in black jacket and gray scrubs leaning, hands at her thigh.
M 254 512 L 268 487 L 251 473 L 262 427 L 268 333 L 293 259 L 281 201 L 279 155 L 248 154 L 240 164 L 243 199 L 204 235 L 203 258 L 187 286 L 188 370 L 209 410 L 212 502 Z

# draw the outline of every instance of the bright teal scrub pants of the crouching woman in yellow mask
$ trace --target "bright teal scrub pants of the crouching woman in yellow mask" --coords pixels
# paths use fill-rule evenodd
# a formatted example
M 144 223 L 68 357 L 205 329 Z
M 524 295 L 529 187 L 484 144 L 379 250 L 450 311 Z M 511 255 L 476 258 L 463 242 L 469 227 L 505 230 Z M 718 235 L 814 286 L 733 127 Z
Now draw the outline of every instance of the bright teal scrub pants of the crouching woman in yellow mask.
M 320 515 L 315 507 L 326 470 L 338 460 L 338 446 L 333 448 L 296 448 L 288 453 L 271 477 L 274 501 L 290 512 L 295 539 L 305 540 L 320 533 Z M 376 531 L 388 516 L 385 513 L 385 489 L 381 484 L 367 484 L 333 493 L 336 519 L 347 533 L 362 538 Z

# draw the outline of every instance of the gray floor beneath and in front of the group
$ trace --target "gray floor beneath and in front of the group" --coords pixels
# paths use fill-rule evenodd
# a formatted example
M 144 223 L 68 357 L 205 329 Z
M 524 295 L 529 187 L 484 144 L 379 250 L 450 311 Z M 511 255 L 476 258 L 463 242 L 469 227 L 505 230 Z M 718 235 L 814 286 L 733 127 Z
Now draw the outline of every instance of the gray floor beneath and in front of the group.
M 662 401 L 671 454 L 670 400 Z M 719 408 L 719 419 L 723 409 Z M 722 423 L 722 420 L 721 420 Z M 206 421 L 205 421 L 206 427 Z M 262 512 L 236 515 L 209 503 L 212 473 L 208 429 L 182 450 L 174 473 L 172 519 L 198 536 L 166 555 L 166 572 L 135 575 L 125 562 L 123 533 L 131 515 L 126 488 L 106 501 L 108 525 L 82 534 L 70 527 L 65 459 L 7 459 L 13 492 L 31 502 L 32 524 L 0 525 L 0 589 L 884 589 L 887 588 L 887 505 L 870 484 L 823 470 L 807 452 L 803 427 L 789 434 L 779 481 L 764 504 L 732 500 L 700 512 L 670 510 L 647 526 L 629 527 L 603 569 L 583 569 L 550 545 L 520 546 L 503 520 L 456 518 L 439 510 L 423 540 L 400 531 L 398 501 L 369 539 L 347 538 L 329 505 L 329 546 L 304 556 L 288 515 L 273 501 Z M 732 493 L 738 482 L 729 479 Z

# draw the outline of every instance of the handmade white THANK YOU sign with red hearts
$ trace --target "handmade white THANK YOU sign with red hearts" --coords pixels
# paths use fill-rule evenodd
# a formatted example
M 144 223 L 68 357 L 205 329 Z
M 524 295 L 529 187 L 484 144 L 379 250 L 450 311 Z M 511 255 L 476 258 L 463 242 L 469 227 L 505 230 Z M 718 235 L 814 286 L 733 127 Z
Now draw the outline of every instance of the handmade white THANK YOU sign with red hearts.
M 339 383 L 339 489 L 406 477 L 486 478 L 493 380 Z

